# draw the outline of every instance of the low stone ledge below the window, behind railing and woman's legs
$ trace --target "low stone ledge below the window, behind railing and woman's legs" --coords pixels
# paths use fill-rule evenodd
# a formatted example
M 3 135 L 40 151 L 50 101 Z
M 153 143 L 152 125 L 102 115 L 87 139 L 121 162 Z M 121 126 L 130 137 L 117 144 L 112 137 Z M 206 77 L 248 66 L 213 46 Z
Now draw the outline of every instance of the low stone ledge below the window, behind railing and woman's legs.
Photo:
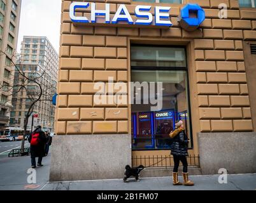
M 182 164 L 179 167 L 179 176 L 182 174 Z M 201 175 L 201 169 L 199 167 L 188 166 L 188 173 L 189 175 Z M 173 167 L 151 167 L 147 168 L 140 174 L 141 178 L 147 177 L 166 177 L 166 176 L 173 176 Z

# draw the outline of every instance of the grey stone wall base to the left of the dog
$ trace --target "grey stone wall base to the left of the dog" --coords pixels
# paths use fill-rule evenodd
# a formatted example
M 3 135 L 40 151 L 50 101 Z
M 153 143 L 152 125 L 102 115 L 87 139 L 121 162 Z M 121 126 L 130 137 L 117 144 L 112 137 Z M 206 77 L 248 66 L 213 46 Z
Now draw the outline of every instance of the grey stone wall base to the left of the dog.
M 123 178 L 131 165 L 131 135 L 87 134 L 53 137 L 50 181 Z

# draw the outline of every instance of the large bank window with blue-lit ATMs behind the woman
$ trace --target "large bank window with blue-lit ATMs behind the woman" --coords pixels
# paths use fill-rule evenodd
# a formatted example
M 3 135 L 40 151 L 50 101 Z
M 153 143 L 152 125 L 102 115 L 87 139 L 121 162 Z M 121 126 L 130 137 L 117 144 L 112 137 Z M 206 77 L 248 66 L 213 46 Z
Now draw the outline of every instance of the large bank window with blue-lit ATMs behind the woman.
M 139 84 L 132 91 L 132 150 L 169 149 L 180 120 L 192 140 L 185 48 L 133 45 L 131 66 L 131 81 Z

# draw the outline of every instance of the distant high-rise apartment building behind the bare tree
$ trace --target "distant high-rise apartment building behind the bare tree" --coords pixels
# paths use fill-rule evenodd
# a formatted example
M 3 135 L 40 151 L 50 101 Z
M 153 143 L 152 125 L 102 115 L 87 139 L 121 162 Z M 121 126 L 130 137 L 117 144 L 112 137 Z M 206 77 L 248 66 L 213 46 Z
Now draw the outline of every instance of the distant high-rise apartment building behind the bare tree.
M 21 44 L 21 60 L 17 66 L 25 75 L 38 78 L 39 84 L 43 88 L 43 96 L 34 106 L 33 114 L 37 114 L 36 124 L 40 124 L 45 131 L 53 131 L 53 123 L 55 116 L 55 106 L 52 104 L 52 96 L 57 92 L 57 70 L 58 70 L 58 54 L 52 44 L 46 37 L 24 36 Z M 21 67 L 20 67 L 21 66 Z M 16 71 L 14 84 L 17 86 L 13 89 L 10 126 L 23 127 L 25 115 L 31 105 L 31 100 L 27 93 L 39 91 L 39 86 L 34 82 L 26 85 L 27 91 L 18 91 L 20 84 L 20 74 Z M 31 123 L 27 129 L 31 129 Z

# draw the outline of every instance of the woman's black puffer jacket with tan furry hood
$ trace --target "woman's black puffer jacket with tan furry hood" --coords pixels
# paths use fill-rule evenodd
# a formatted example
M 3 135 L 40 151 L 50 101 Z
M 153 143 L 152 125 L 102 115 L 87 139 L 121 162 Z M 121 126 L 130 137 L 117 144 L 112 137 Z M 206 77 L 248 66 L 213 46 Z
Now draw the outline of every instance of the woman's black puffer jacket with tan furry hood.
M 184 130 L 175 129 L 171 133 L 171 155 L 188 156 L 188 137 Z

